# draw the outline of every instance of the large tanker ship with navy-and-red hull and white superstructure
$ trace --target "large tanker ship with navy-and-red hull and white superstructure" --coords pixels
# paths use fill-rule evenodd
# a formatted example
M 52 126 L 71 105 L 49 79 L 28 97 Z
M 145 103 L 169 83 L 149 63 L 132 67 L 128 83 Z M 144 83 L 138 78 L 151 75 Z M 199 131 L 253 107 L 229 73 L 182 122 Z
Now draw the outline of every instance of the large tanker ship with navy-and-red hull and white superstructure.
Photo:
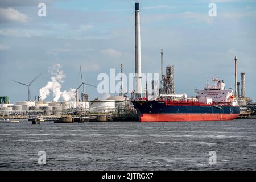
M 163 94 L 155 100 L 133 100 L 141 122 L 165 121 L 225 121 L 240 114 L 240 107 L 232 89 L 225 89 L 224 81 L 213 78 L 214 86 L 195 90 L 195 98 L 186 94 Z M 163 99 L 166 98 L 166 99 Z

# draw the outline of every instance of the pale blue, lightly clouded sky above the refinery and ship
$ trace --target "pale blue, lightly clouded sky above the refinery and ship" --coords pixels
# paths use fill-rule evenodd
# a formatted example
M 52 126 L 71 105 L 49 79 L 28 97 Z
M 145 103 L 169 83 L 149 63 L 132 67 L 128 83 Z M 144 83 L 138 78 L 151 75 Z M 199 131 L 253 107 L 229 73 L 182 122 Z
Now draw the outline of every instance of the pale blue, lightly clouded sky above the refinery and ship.
M 45 17 L 38 16 L 40 2 Z M 0 95 L 27 100 L 27 87 L 11 80 L 28 84 L 42 73 L 31 85 L 35 98 L 54 64 L 65 74 L 62 91 L 81 84 L 80 64 L 84 81 L 96 86 L 100 73 L 118 73 L 121 63 L 123 73 L 134 73 L 134 2 L 141 7 L 143 73 L 160 73 L 163 49 L 176 93 L 195 96 L 213 76 L 234 88 L 237 56 L 238 82 L 245 72 L 246 96 L 256 100 L 256 1 L 246 0 L 0 0 Z M 105 97 L 90 86 L 85 91 L 90 100 Z

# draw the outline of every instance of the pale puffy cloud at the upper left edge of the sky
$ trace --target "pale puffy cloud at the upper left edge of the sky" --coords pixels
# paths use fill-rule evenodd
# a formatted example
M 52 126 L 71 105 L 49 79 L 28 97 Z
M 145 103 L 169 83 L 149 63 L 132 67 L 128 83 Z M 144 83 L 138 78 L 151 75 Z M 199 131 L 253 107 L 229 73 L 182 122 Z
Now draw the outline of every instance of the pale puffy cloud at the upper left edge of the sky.
M 19 22 L 24 23 L 28 21 L 27 15 L 9 7 L 7 9 L 0 8 L 0 23 Z

